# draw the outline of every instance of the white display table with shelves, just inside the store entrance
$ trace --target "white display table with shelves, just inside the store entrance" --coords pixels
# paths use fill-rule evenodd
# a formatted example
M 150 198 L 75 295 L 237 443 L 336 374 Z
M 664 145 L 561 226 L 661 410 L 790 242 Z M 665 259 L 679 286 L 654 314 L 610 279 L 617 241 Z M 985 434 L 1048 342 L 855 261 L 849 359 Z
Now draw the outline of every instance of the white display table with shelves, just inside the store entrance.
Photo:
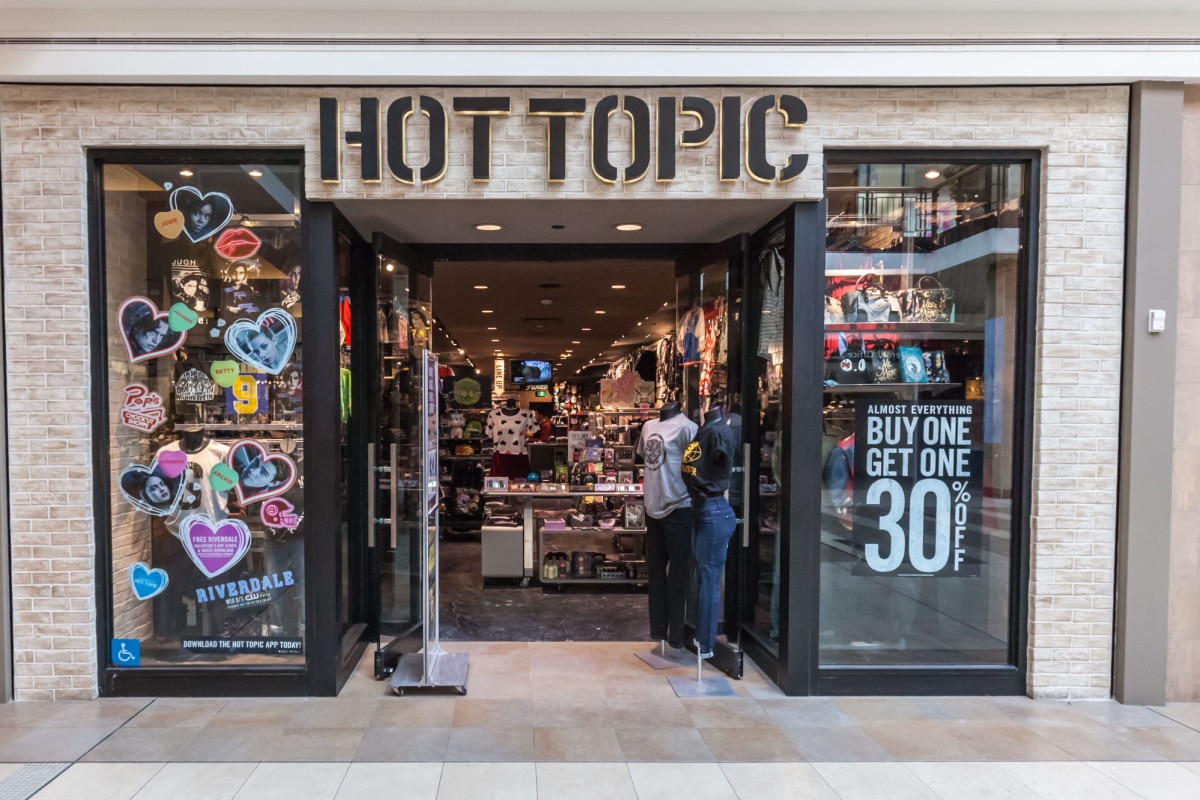
M 539 500 L 562 500 L 574 498 L 641 498 L 642 492 L 630 491 L 606 491 L 596 492 L 590 489 L 570 489 L 554 492 L 498 492 L 485 491 L 485 500 L 493 498 L 521 499 L 522 527 L 514 528 L 506 525 L 484 525 L 481 531 L 482 542 L 482 576 L 485 578 L 521 578 L 521 585 L 528 585 L 529 579 L 535 575 L 545 584 L 596 584 L 596 583 L 637 583 L 644 584 L 641 578 L 558 578 L 556 581 L 542 581 L 538 566 L 541 564 L 545 552 L 546 536 L 568 537 L 580 533 L 606 533 L 606 534 L 646 534 L 644 528 L 600 528 L 590 525 L 587 528 L 564 528 L 562 530 L 546 530 L 544 524 L 538 524 L 534 517 L 534 506 Z M 520 536 L 517 535 L 520 533 Z M 520 570 L 517 565 L 520 564 Z

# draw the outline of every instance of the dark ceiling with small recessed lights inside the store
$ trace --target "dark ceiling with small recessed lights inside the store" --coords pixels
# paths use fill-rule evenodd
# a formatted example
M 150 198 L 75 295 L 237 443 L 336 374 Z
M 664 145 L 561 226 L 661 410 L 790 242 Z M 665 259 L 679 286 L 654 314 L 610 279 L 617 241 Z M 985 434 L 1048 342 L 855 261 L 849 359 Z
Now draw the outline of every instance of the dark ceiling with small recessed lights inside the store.
M 664 260 L 439 263 L 433 313 L 464 351 L 442 355 L 469 356 L 482 375 L 496 357 L 536 357 L 554 363 L 556 379 L 570 378 L 670 333 L 674 284 L 674 264 Z

